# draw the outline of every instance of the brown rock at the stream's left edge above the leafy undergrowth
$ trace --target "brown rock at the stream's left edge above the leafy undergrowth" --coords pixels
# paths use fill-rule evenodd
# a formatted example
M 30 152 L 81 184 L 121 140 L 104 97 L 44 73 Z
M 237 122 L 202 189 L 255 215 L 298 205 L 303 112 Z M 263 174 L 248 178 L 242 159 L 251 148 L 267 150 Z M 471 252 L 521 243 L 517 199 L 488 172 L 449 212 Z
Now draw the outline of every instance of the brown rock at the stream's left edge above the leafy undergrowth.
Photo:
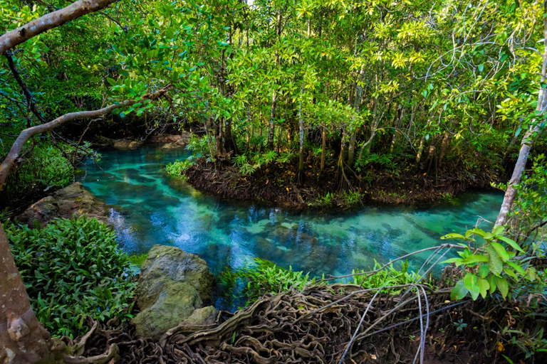
M 54 218 L 69 219 L 81 215 L 97 218 L 103 223 L 108 220 L 105 203 L 83 188 L 82 183 L 76 182 L 33 203 L 17 219 L 29 226 L 36 221 L 43 227 Z

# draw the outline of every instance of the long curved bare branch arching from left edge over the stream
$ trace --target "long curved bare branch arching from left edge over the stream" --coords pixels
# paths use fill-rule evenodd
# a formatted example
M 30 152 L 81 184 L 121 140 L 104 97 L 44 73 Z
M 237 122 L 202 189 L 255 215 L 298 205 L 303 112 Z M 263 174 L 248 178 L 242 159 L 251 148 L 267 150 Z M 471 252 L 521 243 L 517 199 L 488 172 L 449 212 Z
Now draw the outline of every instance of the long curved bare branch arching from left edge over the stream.
M 141 100 L 156 100 L 158 97 L 161 97 L 162 95 L 164 95 L 165 92 L 167 92 L 167 90 L 170 89 L 170 87 L 171 85 L 167 85 L 167 87 L 164 87 L 157 92 L 143 96 Z M 36 127 L 24 129 L 21 132 L 21 134 L 19 134 L 19 137 L 17 137 L 17 139 L 14 141 L 14 145 L 11 146 L 11 149 L 9 150 L 9 153 L 6 156 L 6 159 L 4 159 L 2 164 L 0 164 L 0 193 L 2 189 L 4 188 L 4 185 L 6 183 L 6 179 L 8 177 L 9 171 L 11 170 L 11 167 L 14 166 L 15 161 L 17 157 L 19 156 L 19 153 L 21 153 L 21 150 L 23 149 L 23 146 L 26 143 L 26 141 L 28 141 L 28 139 L 31 139 L 31 137 L 34 137 L 36 134 L 48 132 L 51 129 L 55 129 L 61 124 L 70 122 L 71 120 L 100 117 L 102 115 L 113 112 L 115 109 L 119 109 L 120 107 L 135 105 L 137 102 L 138 102 L 137 100 L 125 100 L 118 104 L 113 104 L 107 107 L 103 107 L 102 109 L 91 110 L 91 111 L 69 112 L 68 114 L 64 114 L 63 116 L 58 117 L 57 119 L 54 119 L 51 122 L 46 122 L 46 124 L 40 124 L 40 125 L 36 125 Z

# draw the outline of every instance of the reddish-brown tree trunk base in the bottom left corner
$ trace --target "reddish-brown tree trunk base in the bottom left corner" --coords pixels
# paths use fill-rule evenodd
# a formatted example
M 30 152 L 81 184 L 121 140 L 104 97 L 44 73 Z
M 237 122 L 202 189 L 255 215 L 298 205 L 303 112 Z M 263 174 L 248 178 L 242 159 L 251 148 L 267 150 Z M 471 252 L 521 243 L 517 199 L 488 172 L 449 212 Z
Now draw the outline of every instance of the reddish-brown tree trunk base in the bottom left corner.
M 51 338 L 38 322 L 0 223 L 0 363 L 51 361 Z

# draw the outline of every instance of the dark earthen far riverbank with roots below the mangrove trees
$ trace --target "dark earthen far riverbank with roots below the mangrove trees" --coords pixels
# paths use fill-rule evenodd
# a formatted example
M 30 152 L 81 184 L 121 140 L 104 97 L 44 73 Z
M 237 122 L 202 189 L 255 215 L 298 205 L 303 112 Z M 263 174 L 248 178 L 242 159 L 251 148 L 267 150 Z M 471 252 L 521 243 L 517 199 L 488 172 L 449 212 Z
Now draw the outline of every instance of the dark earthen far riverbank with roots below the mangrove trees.
M 363 204 L 427 207 L 454 202 L 459 193 L 472 189 L 491 189 L 491 182 L 500 179 L 497 171 L 469 175 L 443 169 L 428 175 L 412 168 L 398 174 L 371 168 L 364 176 L 345 171 L 343 176 L 335 168 L 314 173 L 319 168 L 310 165 L 304 182 L 296 183 L 297 170 L 293 164 L 269 164 L 244 175 L 226 161 L 213 163 L 202 158 L 182 173 L 197 190 L 218 198 L 296 210 L 340 210 Z

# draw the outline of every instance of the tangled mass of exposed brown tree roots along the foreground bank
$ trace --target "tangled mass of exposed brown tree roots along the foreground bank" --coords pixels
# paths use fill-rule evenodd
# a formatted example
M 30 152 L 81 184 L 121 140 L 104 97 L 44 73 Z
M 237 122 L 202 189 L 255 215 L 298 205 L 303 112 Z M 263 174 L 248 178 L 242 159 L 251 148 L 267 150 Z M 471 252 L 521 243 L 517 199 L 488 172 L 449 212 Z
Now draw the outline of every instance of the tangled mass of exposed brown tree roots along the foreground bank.
M 445 291 L 429 294 L 427 313 L 420 284 L 393 287 L 391 293 L 405 288 L 419 294 L 405 298 L 333 284 L 266 295 L 232 316 L 224 314 L 230 317 L 217 325 L 177 326 L 157 342 L 133 338 L 130 327 L 98 330 L 88 339 L 86 355 L 106 348 L 110 353 L 113 346 L 120 350 L 120 363 L 395 363 L 412 362 L 420 350 L 422 357 L 441 355 L 426 346 L 424 326 L 426 320 L 449 321 L 454 302 L 445 303 Z M 432 315 L 437 317 L 429 319 Z M 415 340 L 409 340 L 412 335 Z

